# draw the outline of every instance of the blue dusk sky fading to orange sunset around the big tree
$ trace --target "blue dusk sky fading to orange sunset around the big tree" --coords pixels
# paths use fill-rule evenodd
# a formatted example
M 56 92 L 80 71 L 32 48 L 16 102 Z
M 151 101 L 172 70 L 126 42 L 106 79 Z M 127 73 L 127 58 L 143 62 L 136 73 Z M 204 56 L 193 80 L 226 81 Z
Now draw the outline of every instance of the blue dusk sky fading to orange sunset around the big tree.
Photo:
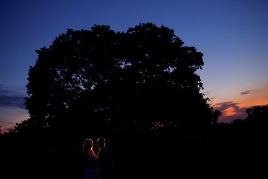
M 0 125 L 28 118 L 23 109 L 36 49 L 67 29 L 94 24 L 126 31 L 151 22 L 175 30 L 185 46 L 204 54 L 198 73 L 221 121 L 245 117 L 245 109 L 268 104 L 268 1 L 15 1 L 0 2 Z M 244 93 L 242 93 L 244 92 Z

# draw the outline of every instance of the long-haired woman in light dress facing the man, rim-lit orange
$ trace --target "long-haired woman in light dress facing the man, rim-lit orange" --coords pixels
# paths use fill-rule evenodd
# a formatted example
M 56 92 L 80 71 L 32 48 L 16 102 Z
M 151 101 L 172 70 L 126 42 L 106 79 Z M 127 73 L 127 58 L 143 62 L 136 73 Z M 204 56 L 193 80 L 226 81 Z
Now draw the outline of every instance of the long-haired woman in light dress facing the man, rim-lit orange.
M 86 139 L 83 145 L 83 162 L 84 162 L 84 175 L 85 179 L 100 179 L 97 158 L 92 150 L 93 141 L 91 139 Z

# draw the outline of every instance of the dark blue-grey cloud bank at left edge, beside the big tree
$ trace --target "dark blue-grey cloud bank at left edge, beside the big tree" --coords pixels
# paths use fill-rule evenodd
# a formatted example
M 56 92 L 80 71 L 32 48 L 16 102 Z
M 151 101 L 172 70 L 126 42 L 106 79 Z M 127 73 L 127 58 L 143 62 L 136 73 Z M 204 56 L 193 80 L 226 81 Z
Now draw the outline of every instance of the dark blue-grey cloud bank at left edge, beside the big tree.
M 17 106 L 24 109 L 25 97 L 25 94 L 11 89 L 4 89 L 3 85 L 0 84 L 0 106 Z

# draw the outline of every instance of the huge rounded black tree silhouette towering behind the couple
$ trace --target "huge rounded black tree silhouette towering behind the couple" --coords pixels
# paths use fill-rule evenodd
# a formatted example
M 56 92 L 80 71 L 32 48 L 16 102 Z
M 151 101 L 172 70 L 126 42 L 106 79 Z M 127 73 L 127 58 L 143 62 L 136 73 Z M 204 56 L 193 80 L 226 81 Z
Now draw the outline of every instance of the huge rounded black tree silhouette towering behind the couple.
M 218 117 L 195 73 L 203 54 L 164 26 L 68 29 L 36 52 L 27 84 L 30 118 L 17 130 L 207 127 Z

